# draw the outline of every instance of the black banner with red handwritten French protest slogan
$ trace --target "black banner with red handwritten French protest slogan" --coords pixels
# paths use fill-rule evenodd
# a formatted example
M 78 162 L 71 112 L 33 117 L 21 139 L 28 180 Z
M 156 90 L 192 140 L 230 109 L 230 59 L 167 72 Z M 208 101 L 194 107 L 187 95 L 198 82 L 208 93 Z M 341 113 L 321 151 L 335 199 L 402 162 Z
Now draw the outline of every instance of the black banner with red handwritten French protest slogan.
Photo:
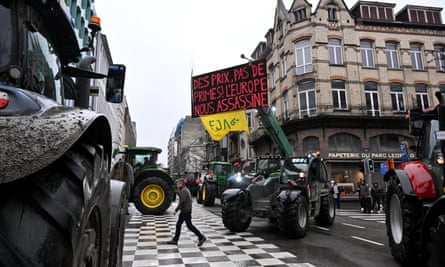
M 266 61 L 192 77 L 192 116 L 267 107 Z

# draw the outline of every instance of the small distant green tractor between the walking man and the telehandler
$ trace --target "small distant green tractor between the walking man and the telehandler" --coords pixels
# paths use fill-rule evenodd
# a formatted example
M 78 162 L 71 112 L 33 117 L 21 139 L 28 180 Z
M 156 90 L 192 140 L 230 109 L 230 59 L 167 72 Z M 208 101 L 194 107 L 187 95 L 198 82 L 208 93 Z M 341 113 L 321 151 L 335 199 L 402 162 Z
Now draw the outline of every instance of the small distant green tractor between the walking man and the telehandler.
M 213 206 L 215 198 L 221 198 L 227 188 L 227 179 L 233 175 L 233 165 L 229 162 L 211 161 L 204 167 L 207 174 L 198 186 L 196 200 L 204 206 Z

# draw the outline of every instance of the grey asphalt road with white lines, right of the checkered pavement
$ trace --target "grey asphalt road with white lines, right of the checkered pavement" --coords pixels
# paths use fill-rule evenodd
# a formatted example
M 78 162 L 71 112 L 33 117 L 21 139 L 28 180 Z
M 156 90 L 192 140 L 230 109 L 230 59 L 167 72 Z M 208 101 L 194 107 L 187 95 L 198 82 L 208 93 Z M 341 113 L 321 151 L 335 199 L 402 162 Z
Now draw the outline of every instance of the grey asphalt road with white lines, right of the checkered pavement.
M 205 208 L 221 216 L 219 200 Z M 387 244 L 384 214 L 360 213 L 357 201 L 342 202 L 331 227 L 318 227 L 310 220 L 304 238 L 289 239 L 263 218 L 254 218 L 247 231 L 317 267 L 400 266 Z

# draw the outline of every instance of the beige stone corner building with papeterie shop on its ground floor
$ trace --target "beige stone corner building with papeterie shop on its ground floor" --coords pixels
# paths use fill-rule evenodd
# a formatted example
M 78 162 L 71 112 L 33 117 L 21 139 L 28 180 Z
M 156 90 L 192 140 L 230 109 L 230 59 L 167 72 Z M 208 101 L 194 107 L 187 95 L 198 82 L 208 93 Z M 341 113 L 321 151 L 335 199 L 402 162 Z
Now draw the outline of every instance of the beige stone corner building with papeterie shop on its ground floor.
M 359 164 L 401 158 L 414 140 L 405 115 L 445 91 L 442 8 L 359 1 L 277 1 L 274 26 L 251 57 L 266 58 L 269 103 L 297 155 L 320 151 L 332 178 L 355 183 Z M 279 154 L 258 117 L 249 143 Z M 230 140 L 230 138 L 229 138 Z M 230 144 L 228 145 L 230 147 Z M 230 152 L 229 152 L 230 154 Z M 412 153 L 411 153 L 412 154 Z

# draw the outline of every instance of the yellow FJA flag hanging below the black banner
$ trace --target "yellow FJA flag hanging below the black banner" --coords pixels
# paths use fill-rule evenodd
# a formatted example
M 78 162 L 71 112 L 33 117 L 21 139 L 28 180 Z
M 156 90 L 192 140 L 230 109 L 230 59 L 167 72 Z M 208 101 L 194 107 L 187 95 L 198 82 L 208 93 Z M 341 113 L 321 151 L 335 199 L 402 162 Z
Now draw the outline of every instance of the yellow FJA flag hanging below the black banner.
M 231 131 L 246 131 L 249 134 L 246 112 L 244 109 L 202 115 L 202 124 L 213 140 L 220 141 Z

